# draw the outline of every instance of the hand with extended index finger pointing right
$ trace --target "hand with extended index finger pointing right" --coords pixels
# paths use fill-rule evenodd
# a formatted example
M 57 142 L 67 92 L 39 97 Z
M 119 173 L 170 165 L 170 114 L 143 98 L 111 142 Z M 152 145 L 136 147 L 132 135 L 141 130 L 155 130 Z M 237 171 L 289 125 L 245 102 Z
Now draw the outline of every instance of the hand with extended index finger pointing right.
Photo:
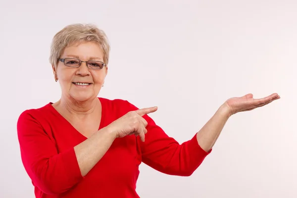
M 107 127 L 117 138 L 123 138 L 127 135 L 140 136 L 141 141 L 145 141 L 145 134 L 148 132 L 146 127 L 148 122 L 142 117 L 148 113 L 155 112 L 157 107 L 149 107 L 130 111 L 113 121 Z

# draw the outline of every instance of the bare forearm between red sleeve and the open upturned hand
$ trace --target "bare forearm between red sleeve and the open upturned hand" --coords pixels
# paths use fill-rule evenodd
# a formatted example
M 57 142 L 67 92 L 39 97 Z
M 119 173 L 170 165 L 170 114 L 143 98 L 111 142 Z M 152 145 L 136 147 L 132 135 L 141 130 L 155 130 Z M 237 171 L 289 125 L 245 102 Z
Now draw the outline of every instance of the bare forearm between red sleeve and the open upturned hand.
M 230 116 L 228 106 L 223 104 L 200 129 L 197 141 L 203 150 L 209 151 L 213 147 Z

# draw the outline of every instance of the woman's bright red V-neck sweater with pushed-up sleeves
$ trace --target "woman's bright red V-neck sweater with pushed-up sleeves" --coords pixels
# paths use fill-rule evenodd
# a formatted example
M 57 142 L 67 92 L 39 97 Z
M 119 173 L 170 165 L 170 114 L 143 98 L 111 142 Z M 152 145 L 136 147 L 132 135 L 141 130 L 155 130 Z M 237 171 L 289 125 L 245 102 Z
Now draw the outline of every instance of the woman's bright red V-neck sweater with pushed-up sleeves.
M 99 129 L 138 109 L 126 100 L 99 100 Z M 199 147 L 196 135 L 180 145 L 145 115 L 145 142 L 135 136 L 117 138 L 82 177 L 74 147 L 86 137 L 51 104 L 25 110 L 17 122 L 22 162 L 35 187 L 36 198 L 139 198 L 136 182 L 141 162 L 165 174 L 190 176 L 210 153 Z

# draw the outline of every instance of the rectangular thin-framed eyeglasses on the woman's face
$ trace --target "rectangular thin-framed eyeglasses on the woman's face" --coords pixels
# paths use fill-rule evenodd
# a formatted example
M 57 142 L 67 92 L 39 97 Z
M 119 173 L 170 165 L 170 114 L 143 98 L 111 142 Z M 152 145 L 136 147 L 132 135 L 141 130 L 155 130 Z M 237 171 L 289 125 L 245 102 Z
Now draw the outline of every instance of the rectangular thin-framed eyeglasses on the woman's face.
M 82 61 L 75 58 L 61 58 L 59 61 L 63 62 L 64 65 L 68 67 L 80 67 L 82 62 L 87 63 L 87 67 L 90 69 L 102 69 L 105 66 L 103 62 L 95 60 Z

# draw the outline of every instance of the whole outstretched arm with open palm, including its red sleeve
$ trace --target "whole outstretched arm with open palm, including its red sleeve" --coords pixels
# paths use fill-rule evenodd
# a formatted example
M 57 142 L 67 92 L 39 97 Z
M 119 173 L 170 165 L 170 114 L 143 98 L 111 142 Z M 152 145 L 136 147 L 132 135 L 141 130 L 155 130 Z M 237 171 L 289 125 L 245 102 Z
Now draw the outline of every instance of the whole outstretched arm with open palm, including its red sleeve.
M 138 141 L 142 160 L 160 172 L 190 176 L 211 152 L 231 115 L 264 106 L 276 99 L 280 99 L 278 94 L 262 99 L 253 99 L 251 94 L 228 99 L 191 140 L 181 145 L 168 137 L 148 115 L 145 115 L 144 118 L 148 121 L 146 141 Z

